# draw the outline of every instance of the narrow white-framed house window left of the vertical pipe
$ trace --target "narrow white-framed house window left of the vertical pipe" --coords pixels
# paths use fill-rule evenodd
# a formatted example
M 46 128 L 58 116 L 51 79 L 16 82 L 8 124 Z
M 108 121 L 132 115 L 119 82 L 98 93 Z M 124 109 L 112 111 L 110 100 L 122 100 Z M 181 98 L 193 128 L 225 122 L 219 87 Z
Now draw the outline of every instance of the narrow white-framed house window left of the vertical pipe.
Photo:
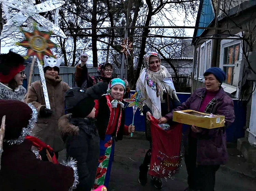
M 199 78 L 203 81 L 203 74 L 211 67 L 212 63 L 212 40 L 207 40 L 200 46 L 199 63 Z

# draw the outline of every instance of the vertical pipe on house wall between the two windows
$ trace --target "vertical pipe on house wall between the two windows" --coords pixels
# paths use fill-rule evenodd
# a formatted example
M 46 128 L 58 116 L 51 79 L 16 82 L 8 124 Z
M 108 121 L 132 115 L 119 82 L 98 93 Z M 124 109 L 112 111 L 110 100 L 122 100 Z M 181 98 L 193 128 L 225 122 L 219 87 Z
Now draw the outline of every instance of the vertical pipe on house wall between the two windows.
M 215 15 L 215 24 L 214 27 L 217 28 L 218 27 L 218 15 L 219 15 L 219 6 L 221 5 L 221 0 L 218 0 L 217 2 L 217 8 L 216 8 L 216 15 Z M 216 35 L 219 34 L 219 30 L 215 29 L 214 34 L 215 37 Z M 219 40 L 218 39 L 214 39 L 213 40 L 213 46 L 212 46 L 212 67 L 219 67 L 219 63 L 217 64 L 218 60 L 218 44 L 219 44 Z

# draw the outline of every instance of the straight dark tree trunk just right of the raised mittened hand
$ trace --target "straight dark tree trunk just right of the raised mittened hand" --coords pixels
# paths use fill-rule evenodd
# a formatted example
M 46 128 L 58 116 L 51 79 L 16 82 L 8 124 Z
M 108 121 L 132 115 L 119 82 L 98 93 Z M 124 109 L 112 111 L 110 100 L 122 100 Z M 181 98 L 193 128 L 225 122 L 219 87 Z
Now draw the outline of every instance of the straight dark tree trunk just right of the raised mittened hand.
M 93 51 L 93 67 L 98 67 L 98 50 L 97 50 L 97 0 L 93 0 L 93 14 L 91 18 L 91 27 L 93 28 L 91 34 L 91 48 Z

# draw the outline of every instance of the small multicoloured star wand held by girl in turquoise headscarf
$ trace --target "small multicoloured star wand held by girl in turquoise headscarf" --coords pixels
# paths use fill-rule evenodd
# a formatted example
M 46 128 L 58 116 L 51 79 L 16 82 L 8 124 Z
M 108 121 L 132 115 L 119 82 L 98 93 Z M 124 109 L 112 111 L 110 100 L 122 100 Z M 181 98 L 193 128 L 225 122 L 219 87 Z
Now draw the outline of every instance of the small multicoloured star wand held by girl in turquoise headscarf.
M 127 107 L 132 107 L 133 109 L 133 118 L 132 118 L 132 125 L 134 122 L 134 115 L 135 112 L 137 111 L 137 109 L 139 108 L 142 111 L 142 106 L 143 106 L 143 101 L 145 100 L 145 98 L 141 97 L 140 92 L 136 92 L 134 94 L 131 94 L 131 98 L 130 99 L 124 99 L 125 102 L 128 102 L 129 105 Z M 133 136 L 133 133 L 131 133 L 131 137 Z

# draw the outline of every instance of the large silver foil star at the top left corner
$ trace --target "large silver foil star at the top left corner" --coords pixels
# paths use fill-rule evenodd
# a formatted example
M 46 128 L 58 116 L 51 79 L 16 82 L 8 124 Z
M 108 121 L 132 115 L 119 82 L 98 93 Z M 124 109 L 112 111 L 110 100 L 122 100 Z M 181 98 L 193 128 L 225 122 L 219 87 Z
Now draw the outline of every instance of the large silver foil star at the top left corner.
M 57 25 L 44 18 L 43 16 L 39 15 L 39 13 L 52 11 L 62 6 L 63 4 L 65 4 L 65 1 L 49 0 L 37 5 L 34 5 L 33 0 L 0 0 L 0 2 L 4 6 L 19 10 L 16 15 L 10 18 L 7 23 L 3 25 L 3 31 L 0 39 L 3 39 L 12 34 L 13 32 L 17 31 L 20 25 L 22 25 L 22 23 L 24 23 L 29 17 L 33 18 L 48 31 L 52 31 L 54 34 L 62 38 L 67 38 L 64 32 L 59 27 L 57 27 Z M 9 15 L 9 13 L 5 14 Z

